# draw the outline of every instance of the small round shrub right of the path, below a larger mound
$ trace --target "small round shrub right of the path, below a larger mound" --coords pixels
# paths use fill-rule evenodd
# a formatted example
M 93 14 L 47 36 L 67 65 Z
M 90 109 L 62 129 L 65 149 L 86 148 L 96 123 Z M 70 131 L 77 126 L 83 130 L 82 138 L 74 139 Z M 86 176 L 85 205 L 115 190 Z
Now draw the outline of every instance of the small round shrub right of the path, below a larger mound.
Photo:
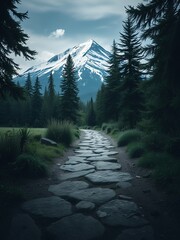
M 142 142 L 132 142 L 127 146 L 127 152 L 131 158 L 139 158 L 145 152 L 145 145 Z

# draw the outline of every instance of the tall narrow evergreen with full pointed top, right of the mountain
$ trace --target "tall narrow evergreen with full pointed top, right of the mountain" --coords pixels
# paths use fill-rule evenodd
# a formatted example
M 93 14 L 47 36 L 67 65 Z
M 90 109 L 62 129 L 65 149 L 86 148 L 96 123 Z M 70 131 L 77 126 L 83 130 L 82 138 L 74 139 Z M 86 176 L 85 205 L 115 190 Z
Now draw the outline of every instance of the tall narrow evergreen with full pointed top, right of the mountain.
M 140 92 L 142 50 L 133 22 L 128 17 L 121 33 L 120 51 L 123 53 L 121 64 L 120 113 L 122 124 L 133 128 L 140 120 L 142 93 Z

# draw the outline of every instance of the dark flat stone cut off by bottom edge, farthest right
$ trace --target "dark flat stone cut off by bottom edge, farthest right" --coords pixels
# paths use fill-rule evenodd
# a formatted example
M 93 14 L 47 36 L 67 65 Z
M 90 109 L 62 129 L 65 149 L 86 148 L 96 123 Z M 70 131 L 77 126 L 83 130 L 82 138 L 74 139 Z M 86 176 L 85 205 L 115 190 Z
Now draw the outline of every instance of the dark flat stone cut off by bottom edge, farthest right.
M 154 231 L 151 226 L 136 229 L 127 229 L 116 240 L 154 240 Z

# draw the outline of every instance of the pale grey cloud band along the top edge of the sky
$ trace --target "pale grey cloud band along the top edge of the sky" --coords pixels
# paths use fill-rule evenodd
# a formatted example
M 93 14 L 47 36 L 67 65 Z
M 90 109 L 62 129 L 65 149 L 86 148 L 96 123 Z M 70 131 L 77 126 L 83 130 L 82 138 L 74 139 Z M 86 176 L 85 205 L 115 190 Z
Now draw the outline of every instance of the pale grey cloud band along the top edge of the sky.
M 76 19 L 97 20 L 108 16 L 125 15 L 124 6 L 135 6 L 143 0 L 29 0 L 24 8 L 36 12 L 68 13 Z

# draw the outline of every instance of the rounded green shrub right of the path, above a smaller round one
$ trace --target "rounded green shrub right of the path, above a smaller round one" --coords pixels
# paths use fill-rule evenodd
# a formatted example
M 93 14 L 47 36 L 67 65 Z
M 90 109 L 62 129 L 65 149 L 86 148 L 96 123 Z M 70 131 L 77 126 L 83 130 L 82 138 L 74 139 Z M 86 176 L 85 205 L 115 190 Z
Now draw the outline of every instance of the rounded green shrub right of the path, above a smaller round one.
M 139 141 L 142 138 L 142 132 L 137 129 L 126 130 L 121 133 L 118 139 L 118 147 L 126 146 L 127 144 Z

